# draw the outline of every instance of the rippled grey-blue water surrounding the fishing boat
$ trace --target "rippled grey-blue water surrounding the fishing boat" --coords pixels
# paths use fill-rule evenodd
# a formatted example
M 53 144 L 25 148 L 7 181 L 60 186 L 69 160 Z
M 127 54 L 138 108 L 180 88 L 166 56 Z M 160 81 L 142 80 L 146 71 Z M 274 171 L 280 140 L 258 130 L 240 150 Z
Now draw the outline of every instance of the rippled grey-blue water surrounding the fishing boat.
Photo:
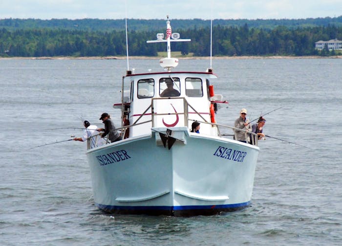
M 139 65 L 145 63 L 144 66 Z M 130 60 L 136 72 L 157 60 Z M 181 60 L 204 71 L 209 60 Z M 216 93 L 230 102 L 219 123 L 241 108 L 265 115 L 267 138 L 252 205 L 191 218 L 109 216 L 93 203 L 82 119 L 120 125 L 126 60 L 0 60 L 0 245 L 341 245 L 342 59 L 214 60 Z M 53 129 L 53 130 L 51 130 Z M 231 134 L 227 132 L 228 134 Z

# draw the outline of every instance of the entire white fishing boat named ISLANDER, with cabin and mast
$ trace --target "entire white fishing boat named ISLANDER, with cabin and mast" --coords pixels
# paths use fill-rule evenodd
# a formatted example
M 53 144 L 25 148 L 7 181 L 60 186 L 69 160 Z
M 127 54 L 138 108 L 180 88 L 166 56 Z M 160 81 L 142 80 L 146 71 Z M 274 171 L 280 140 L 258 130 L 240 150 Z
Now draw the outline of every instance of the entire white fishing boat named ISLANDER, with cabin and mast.
M 126 122 L 124 139 L 86 152 L 94 201 L 106 212 L 213 215 L 251 202 L 257 140 L 248 144 L 220 134 L 235 128 L 215 122 L 217 104 L 227 102 L 214 94 L 212 69 L 172 71 L 178 60 L 171 58 L 170 44 L 182 41 L 190 40 L 171 33 L 168 19 L 166 38 L 157 34 L 147 42 L 167 43 L 168 57 L 159 61 L 164 69 L 127 71 L 122 79 L 122 101 L 113 107 Z M 173 94 L 166 93 L 167 84 Z M 194 121 L 200 133 L 190 131 Z

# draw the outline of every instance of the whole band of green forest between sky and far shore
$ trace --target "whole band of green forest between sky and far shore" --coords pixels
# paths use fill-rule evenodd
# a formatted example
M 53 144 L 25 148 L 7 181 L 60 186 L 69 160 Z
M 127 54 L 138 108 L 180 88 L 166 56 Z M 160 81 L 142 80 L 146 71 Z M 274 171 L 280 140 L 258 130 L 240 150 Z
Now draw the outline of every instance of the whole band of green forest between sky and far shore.
M 329 55 L 328 50 L 315 50 L 315 42 L 342 40 L 342 16 L 303 20 L 214 20 L 213 24 L 214 56 Z M 165 43 L 146 43 L 146 40 L 156 39 L 157 32 L 165 33 L 165 26 L 165 20 L 128 20 L 129 55 L 156 56 L 158 51 L 166 51 Z M 192 39 L 192 42 L 172 43 L 172 51 L 210 55 L 210 21 L 172 20 L 171 26 L 181 38 Z M 0 20 L 0 56 L 126 55 L 124 29 L 124 20 Z

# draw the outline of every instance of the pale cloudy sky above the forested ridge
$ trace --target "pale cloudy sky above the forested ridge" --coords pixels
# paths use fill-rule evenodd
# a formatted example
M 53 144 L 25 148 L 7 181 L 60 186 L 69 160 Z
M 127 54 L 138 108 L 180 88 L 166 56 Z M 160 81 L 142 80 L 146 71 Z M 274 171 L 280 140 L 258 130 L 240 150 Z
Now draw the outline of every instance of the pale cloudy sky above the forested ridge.
M 342 0 L 0 0 L 0 19 L 306 19 L 342 15 Z

